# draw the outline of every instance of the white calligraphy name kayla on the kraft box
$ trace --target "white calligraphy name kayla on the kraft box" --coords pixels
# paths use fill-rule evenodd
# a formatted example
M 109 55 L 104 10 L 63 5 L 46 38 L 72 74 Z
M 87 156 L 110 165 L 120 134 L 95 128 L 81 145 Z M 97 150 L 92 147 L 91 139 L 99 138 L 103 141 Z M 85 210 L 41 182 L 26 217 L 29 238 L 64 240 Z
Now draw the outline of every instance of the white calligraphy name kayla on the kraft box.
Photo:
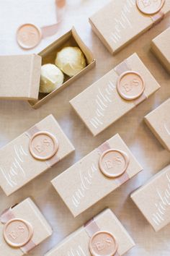
M 22 148 L 22 145 L 20 145 L 19 148 L 17 145 L 14 145 L 14 159 L 12 159 L 11 165 L 7 170 L 0 167 L 1 174 L 10 187 L 17 186 L 17 179 L 20 174 L 24 177 L 26 176 L 24 168 L 22 168 L 25 156 L 27 156 L 27 153 L 24 151 L 24 148 Z

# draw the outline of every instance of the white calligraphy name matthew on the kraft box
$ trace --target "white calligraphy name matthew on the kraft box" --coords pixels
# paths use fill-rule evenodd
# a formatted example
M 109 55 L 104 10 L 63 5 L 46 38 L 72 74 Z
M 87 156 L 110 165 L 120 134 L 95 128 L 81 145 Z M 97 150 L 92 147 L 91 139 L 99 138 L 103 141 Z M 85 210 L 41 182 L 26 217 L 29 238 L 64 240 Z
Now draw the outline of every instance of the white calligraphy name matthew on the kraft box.
M 90 119 L 92 126 L 97 129 L 103 124 L 102 119 L 104 118 L 105 111 L 112 103 L 112 91 L 115 90 L 115 85 L 112 81 L 107 83 L 104 93 L 98 88 L 97 97 L 95 98 L 96 110 L 94 116 Z

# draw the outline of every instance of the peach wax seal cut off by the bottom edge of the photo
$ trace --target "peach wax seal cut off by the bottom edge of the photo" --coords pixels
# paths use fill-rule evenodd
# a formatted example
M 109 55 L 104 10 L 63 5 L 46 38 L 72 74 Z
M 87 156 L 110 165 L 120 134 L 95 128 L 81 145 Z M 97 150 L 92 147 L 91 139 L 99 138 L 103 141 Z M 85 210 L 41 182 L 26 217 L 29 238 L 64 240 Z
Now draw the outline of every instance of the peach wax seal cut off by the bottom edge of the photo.
M 113 256 L 117 252 L 118 244 L 111 233 L 98 231 L 91 236 L 89 249 L 93 256 Z

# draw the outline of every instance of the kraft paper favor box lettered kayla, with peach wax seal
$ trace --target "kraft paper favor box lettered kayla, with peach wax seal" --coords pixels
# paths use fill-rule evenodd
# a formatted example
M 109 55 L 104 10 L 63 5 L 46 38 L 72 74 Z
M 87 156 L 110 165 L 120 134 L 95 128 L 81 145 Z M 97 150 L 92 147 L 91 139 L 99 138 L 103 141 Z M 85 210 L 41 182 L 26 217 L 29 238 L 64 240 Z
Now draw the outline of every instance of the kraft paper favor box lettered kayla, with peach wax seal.
M 11 195 L 74 150 L 53 115 L 0 149 L 0 187 Z

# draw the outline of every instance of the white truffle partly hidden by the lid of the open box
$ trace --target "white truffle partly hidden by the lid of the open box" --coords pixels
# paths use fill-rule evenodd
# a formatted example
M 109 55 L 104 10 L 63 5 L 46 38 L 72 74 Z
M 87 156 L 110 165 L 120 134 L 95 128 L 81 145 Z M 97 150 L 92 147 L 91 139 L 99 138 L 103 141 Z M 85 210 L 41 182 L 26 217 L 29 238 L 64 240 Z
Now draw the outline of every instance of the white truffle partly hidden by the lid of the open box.
M 63 84 L 64 75 L 54 64 L 41 67 L 40 93 L 51 93 Z

